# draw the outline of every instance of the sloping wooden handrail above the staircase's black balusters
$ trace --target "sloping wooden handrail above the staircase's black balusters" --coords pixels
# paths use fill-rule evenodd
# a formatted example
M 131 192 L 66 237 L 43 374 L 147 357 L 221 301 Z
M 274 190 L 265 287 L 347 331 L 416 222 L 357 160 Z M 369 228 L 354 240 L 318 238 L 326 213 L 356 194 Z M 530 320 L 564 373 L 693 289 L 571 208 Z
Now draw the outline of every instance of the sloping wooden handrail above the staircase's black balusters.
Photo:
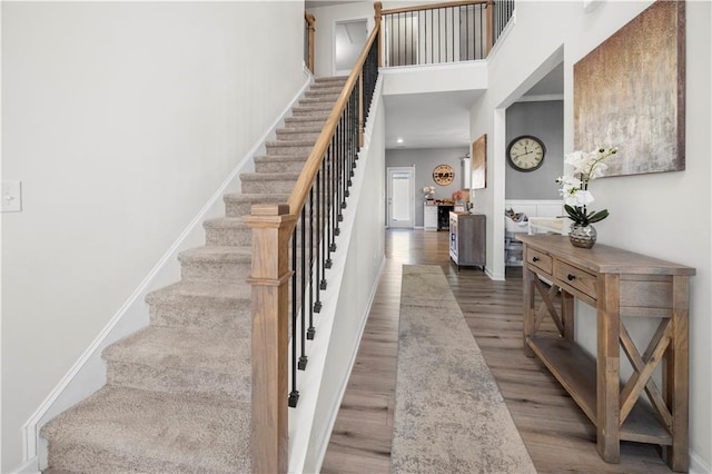
M 366 57 L 368 56 L 368 51 L 370 50 L 372 45 L 378 36 L 380 30 L 380 24 L 376 23 L 370 36 L 366 40 L 366 45 L 364 50 L 362 51 L 356 65 L 352 69 L 346 83 L 344 85 L 344 89 L 342 93 L 338 96 L 332 112 L 329 113 L 324 128 L 322 128 L 322 132 L 314 144 L 314 148 L 307 158 L 307 162 L 304 166 L 304 170 L 299 175 L 291 194 L 289 195 L 289 200 L 287 204 L 289 205 L 289 214 L 296 216 L 301 211 L 304 207 L 307 195 L 309 194 L 309 189 L 312 188 L 312 184 L 314 182 L 314 178 L 322 167 L 322 160 L 326 150 L 332 142 L 332 137 L 334 136 L 334 131 L 336 131 L 336 126 L 342 117 L 342 112 L 346 108 L 346 102 L 350 97 L 352 90 L 354 90 L 354 86 L 356 85 L 356 79 L 360 76 L 360 70 L 363 69 L 364 62 L 366 62 Z M 362 82 L 363 83 L 363 82 Z M 289 229 L 291 230 L 291 229 Z

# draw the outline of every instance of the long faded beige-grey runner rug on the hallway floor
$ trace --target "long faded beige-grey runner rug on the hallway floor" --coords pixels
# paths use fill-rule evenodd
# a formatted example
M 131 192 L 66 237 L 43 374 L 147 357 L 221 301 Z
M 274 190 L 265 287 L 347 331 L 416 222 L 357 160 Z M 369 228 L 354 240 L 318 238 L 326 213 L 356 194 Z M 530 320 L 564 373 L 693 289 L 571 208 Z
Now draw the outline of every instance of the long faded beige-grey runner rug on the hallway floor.
M 535 473 L 438 266 L 405 265 L 392 473 Z

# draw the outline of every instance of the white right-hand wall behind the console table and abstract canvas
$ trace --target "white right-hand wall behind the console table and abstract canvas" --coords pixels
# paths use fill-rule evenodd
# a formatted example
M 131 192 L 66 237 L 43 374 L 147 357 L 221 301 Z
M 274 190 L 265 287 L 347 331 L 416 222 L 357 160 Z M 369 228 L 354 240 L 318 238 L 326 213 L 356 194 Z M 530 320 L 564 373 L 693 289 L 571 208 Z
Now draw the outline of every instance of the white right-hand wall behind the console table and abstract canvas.
M 504 197 L 505 127 L 502 108 L 536 83 L 563 56 L 564 60 L 564 151 L 573 149 L 573 65 L 619 28 L 644 10 L 650 2 L 603 1 L 585 11 L 583 2 L 517 2 L 516 24 L 490 62 L 490 89 L 472 110 L 471 136 L 486 132 L 492 188 L 477 194 L 487 213 L 501 216 Z M 712 413 L 710 398 L 710 178 L 709 134 L 712 128 L 711 33 L 712 4 L 688 2 L 686 17 L 686 169 L 679 172 L 600 179 L 592 186 L 596 206 L 611 217 L 596 225 L 599 240 L 641 254 L 695 267 L 690 295 L 690 448 L 691 470 L 712 468 Z M 536 38 L 536 41 L 532 41 Z M 607 144 L 615 145 L 615 144 Z M 562 164 L 563 170 L 563 164 Z M 502 219 L 500 219 L 502 220 Z M 494 227 L 494 226 L 493 226 Z M 487 228 L 487 248 L 500 245 L 501 229 Z M 487 267 L 502 259 L 495 249 Z M 593 350 L 595 319 L 577 305 L 577 337 Z M 650 333 L 655 322 L 645 322 L 636 333 Z

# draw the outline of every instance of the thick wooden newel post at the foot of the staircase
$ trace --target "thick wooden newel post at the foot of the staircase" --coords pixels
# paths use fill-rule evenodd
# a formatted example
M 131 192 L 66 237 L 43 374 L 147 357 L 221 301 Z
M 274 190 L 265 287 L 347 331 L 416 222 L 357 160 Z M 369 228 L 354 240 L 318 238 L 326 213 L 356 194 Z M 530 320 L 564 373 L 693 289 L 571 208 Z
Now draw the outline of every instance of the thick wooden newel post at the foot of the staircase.
M 256 205 L 245 219 L 253 229 L 251 471 L 288 468 L 288 243 L 296 221 L 286 204 Z

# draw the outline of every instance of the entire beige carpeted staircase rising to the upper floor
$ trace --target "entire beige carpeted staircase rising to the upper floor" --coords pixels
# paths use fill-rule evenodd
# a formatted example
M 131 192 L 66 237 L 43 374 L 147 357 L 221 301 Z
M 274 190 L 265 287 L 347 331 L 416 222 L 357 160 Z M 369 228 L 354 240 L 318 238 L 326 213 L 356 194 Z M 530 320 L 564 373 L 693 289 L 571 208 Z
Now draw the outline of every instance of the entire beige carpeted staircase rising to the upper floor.
M 286 203 L 345 78 L 317 79 L 206 245 L 184 251 L 181 280 L 147 297 L 150 324 L 107 347 L 107 384 L 41 428 L 47 472 L 250 471 L 251 231 L 256 203 Z M 286 394 L 285 394 L 286 397 Z M 286 398 L 285 398 L 286 403 Z

